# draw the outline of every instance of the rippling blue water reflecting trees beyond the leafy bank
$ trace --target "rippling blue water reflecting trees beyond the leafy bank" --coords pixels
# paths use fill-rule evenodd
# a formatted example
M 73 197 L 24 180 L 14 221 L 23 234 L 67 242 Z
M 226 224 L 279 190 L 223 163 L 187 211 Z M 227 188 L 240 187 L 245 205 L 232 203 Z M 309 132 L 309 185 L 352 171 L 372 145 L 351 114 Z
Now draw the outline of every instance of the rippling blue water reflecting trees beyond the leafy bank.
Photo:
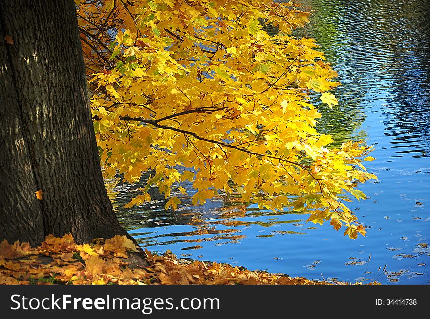
M 307 216 L 218 198 L 164 211 L 164 199 L 124 209 L 134 188 L 116 187 L 124 227 L 151 251 L 327 281 L 430 283 L 430 1 L 306 0 L 315 38 L 338 72 L 339 106 L 319 130 L 337 143 L 366 140 L 379 180 L 349 203 L 367 228 L 351 240 Z M 318 101 L 316 100 L 316 103 Z M 184 185 L 189 187 L 189 185 Z

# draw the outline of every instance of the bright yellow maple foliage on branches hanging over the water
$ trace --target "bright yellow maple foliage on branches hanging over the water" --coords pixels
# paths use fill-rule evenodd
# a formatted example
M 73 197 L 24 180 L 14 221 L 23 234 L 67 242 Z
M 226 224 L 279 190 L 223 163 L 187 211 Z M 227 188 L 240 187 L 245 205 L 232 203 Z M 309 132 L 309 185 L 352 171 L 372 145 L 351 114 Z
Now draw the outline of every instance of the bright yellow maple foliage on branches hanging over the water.
M 376 178 L 362 164 L 371 147 L 334 148 L 316 128 L 309 94 L 331 108 L 340 83 L 315 41 L 292 35 L 309 13 L 271 0 L 77 3 L 105 177 L 135 183 L 151 172 L 127 207 L 151 201 L 156 186 L 176 209 L 176 184 L 193 204 L 238 194 L 365 235 L 345 202 L 365 199 L 356 187 Z

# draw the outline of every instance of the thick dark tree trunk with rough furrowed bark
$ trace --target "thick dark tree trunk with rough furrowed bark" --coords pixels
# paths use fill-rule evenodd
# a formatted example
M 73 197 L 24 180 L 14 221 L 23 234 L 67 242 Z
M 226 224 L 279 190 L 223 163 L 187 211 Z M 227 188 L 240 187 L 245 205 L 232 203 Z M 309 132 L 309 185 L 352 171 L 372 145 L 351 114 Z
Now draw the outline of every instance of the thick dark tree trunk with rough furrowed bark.
M 0 37 L 0 241 L 126 234 L 103 183 L 74 1 L 2 0 Z

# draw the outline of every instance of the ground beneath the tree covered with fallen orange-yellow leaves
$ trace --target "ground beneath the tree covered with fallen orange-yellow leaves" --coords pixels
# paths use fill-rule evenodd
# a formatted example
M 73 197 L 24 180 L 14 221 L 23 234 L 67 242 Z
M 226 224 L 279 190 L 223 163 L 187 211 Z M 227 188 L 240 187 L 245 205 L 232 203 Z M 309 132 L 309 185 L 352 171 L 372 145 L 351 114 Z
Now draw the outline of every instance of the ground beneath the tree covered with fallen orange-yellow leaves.
M 143 258 L 142 258 L 143 257 Z M 79 245 L 71 235 L 47 236 L 39 247 L 0 244 L 0 284 L 299 284 L 323 285 L 216 262 L 181 264 L 174 256 L 142 254 L 125 236 Z M 340 283 L 345 284 L 345 283 Z

